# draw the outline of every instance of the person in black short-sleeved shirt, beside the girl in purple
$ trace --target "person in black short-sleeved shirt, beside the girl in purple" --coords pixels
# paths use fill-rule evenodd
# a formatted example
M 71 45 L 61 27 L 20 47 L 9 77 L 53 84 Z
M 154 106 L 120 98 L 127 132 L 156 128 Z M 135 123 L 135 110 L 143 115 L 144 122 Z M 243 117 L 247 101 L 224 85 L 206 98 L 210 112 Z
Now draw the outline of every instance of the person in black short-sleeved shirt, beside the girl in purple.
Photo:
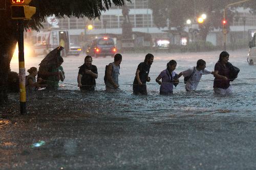
M 152 54 L 147 54 L 145 56 L 144 62 L 141 62 L 138 65 L 136 76 L 133 82 L 133 93 L 134 94 L 147 94 L 146 91 L 146 82 L 150 82 L 150 73 L 151 64 L 154 61 L 154 56 Z

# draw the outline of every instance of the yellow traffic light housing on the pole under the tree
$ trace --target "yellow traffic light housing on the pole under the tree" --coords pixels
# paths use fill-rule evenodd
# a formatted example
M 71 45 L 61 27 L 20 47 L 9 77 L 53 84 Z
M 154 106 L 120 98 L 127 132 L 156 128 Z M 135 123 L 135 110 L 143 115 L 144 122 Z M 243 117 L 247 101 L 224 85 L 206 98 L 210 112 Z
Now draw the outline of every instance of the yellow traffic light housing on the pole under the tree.
M 30 19 L 36 11 L 35 7 L 30 7 L 31 0 L 10 0 L 12 19 Z

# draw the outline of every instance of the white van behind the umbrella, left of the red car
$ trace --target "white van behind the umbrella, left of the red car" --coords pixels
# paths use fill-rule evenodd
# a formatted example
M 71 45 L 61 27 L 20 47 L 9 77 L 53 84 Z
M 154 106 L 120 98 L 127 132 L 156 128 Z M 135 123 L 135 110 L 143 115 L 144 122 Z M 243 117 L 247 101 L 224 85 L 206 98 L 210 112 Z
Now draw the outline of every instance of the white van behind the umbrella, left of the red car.
M 47 32 L 40 32 L 36 35 L 36 43 L 34 44 L 35 55 L 47 55 L 54 48 L 58 47 L 60 40 L 65 44 L 66 54 L 70 49 L 69 32 L 66 30 L 51 30 Z

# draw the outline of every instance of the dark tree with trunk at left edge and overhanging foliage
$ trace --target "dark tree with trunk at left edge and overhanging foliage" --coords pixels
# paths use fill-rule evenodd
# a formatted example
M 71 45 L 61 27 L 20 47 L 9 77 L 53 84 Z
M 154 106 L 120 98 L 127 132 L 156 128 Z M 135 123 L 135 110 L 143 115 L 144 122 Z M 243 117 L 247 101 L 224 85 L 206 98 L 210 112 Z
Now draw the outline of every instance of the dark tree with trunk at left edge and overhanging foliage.
M 8 70 L 18 38 L 17 21 L 11 19 L 10 2 L 10 0 L 1 0 L 0 4 L 0 105 L 4 105 L 8 100 Z M 36 7 L 36 13 L 31 20 L 25 20 L 23 24 L 25 30 L 28 28 L 38 30 L 42 27 L 41 22 L 53 14 L 59 18 L 66 15 L 94 19 L 99 17 L 102 11 L 108 10 L 112 5 L 111 2 L 115 6 L 124 4 L 124 0 L 32 0 L 30 6 Z

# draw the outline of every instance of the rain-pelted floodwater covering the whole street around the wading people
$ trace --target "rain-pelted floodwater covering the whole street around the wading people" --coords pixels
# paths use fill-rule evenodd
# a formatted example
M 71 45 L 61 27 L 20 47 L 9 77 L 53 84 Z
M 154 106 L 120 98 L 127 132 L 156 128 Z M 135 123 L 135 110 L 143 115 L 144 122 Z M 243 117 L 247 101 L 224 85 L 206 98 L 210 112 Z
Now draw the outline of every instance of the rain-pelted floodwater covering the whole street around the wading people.
M 203 76 L 197 92 L 187 93 L 183 77 L 174 95 L 159 95 L 156 77 L 177 61 L 179 74 L 198 59 L 214 69 L 217 52 L 153 53 L 148 95 L 132 94 L 135 71 L 145 54 L 122 54 L 120 91 L 105 91 L 105 65 L 111 57 L 93 58 L 98 68 L 96 91 L 81 93 L 78 66 L 85 56 L 64 58 L 61 90 L 38 90 L 27 96 L 27 115 L 19 115 L 19 96 L 0 110 L 0 169 L 254 169 L 256 67 L 247 50 L 230 51 L 240 68 L 233 94 L 213 93 L 212 75 Z M 38 68 L 42 57 L 26 58 Z M 11 70 L 18 71 L 17 58 Z M 74 84 L 74 85 L 71 85 Z M 30 145 L 44 140 L 39 148 Z

